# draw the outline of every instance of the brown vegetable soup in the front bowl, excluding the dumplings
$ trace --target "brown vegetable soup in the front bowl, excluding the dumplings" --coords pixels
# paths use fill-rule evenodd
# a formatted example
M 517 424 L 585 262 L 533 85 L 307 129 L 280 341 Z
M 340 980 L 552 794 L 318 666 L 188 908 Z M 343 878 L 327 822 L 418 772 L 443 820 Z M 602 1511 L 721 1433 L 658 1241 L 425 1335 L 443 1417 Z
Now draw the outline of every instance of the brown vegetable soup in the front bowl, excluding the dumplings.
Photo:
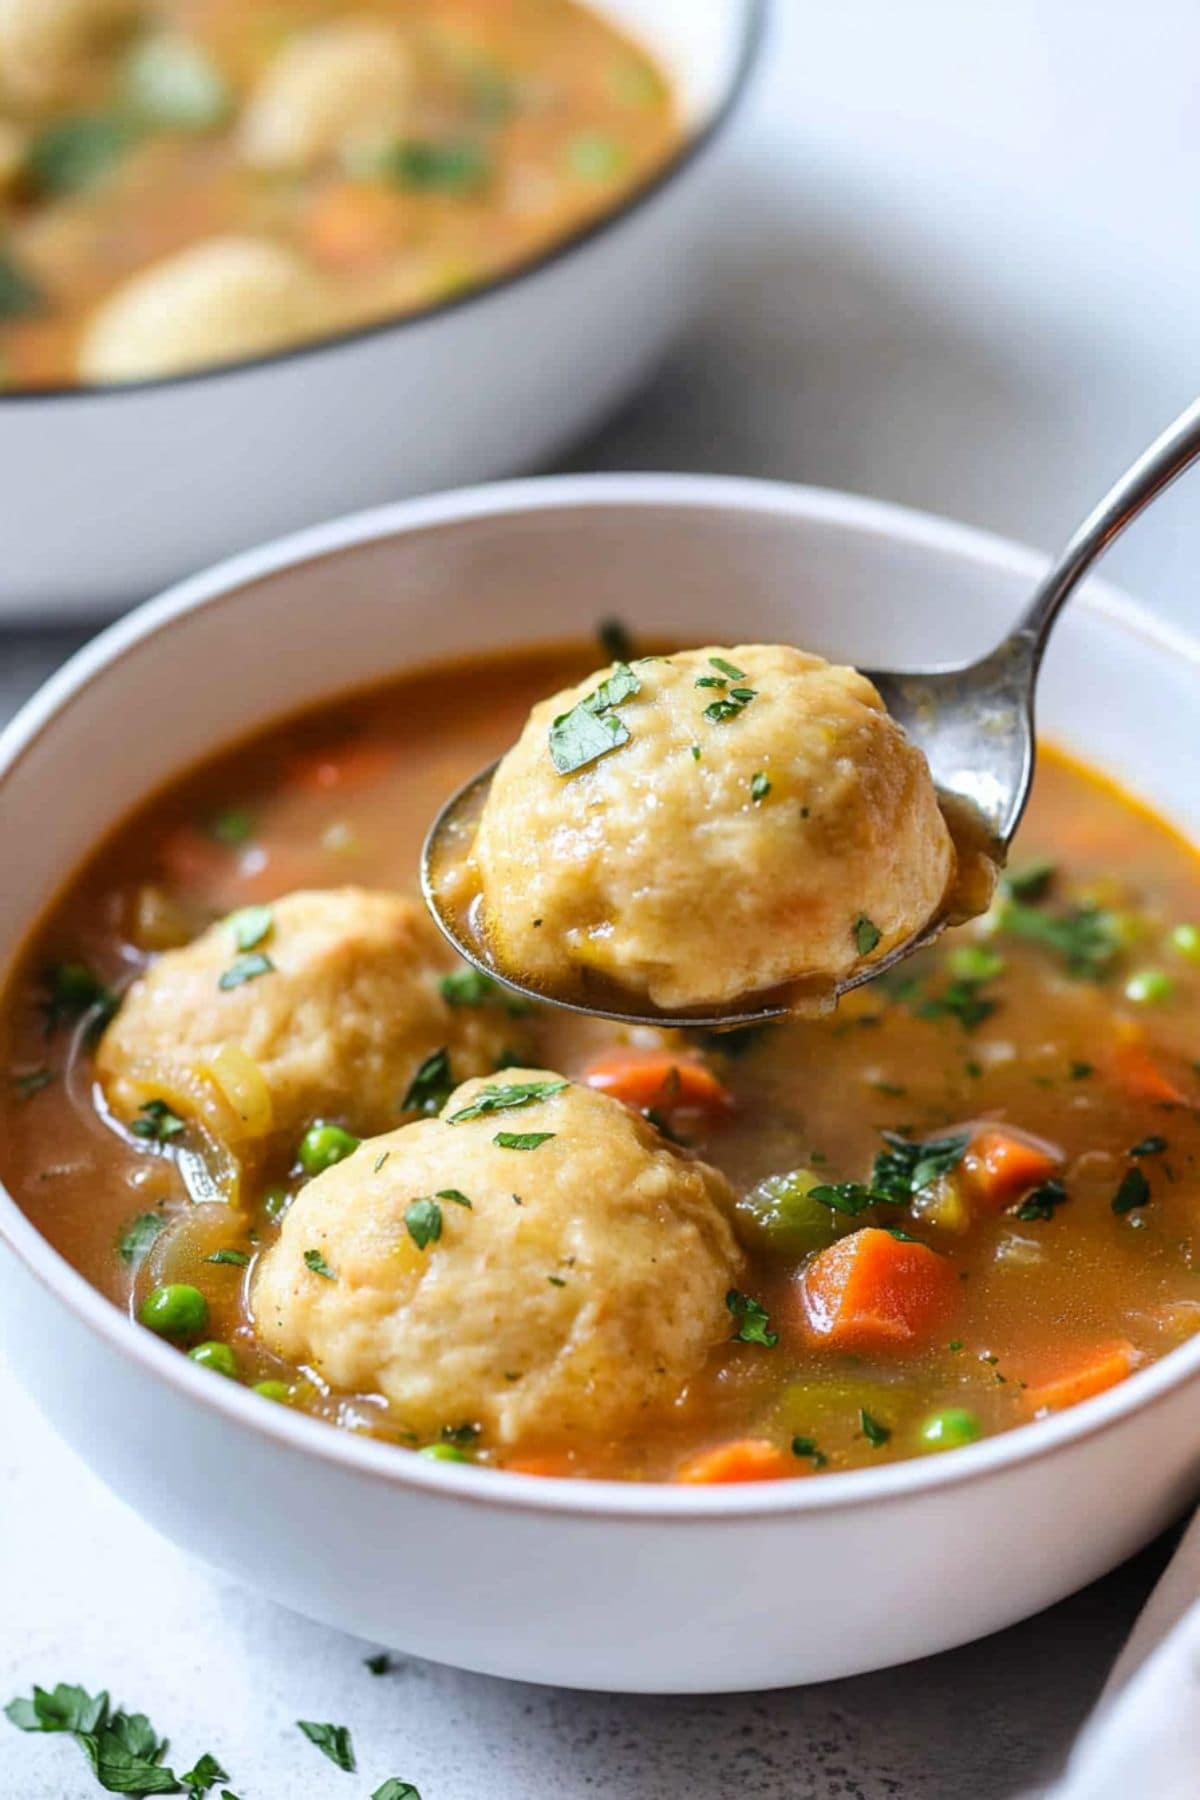
M 993 911 L 833 1019 L 752 1037 L 631 1037 L 552 1010 L 515 1015 L 502 994 L 452 979 L 459 1010 L 489 1021 L 491 1037 L 473 1042 L 497 1064 L 552 1071 L 648 1114 L 639 1157 L 698 1154 L 716 1170 L 702 1199 L 732 1211 L 743 1260 L 718 1292 L 716 1341 L 669 1404 L 603 1431 L 533 1417 L 502 1442 L 470 1415 L 414 1424 L 378 1388 L 338 1388 L 255 1332 L 248 1296 L 281 1219 L 313 1179 L 331 1179 L 315 1170 L 344 1154 L 336 1132 L 351 1147 L 362 1132 L 353 1069 L 338 1071 L 331 1105 L 313 1103 L 324 1138 L 297 1129 L 266 1163 L 237 1163 L 178 1120 L 171 1096 L 119 1130 L 95 1085 L 99 1026 L 155 954 L 234 909 L 299 889 L 412 895 L 441 799 L 515 738 L 536 698 L 594 661 L 579 646 L 412 671 L 237 747 L 103 848 L 4 1003 L 0 1165 L 45 1237 L 133 1312 L 164 1283 L 196 1287 L 203 1330 L 175 1341 L 227 1346 L 221 1366 L 266 1382 L 268 1397 L 398 1454 L 439 1445 L 531 1472 L 720 1481 L 876 1465 L 1058 1411 L 1189 1337 L 1200 1327 L 1200 871 L 1164 824 L 1051 751 Z M 264 922 L 250 914 L 250 938 Z M 270 949 L 264 936 L 257 954 Z M 230 967 L 236 956 L 230 943 Z M 264 990 L 279 972 L 257 979 Z M 443 1084 L 434 1105 L 444 1094 Z M 421 1111 L 419 1094 L 396 1100 L 396 1125 Z M 486 1123 L 488 1141 L 493 1129 L 538 1127 L 543 1139 L 554 1129 L 536 1105 Z M 538 1168 L 551 1166 L 538 1157 L 561 1150 L 511 1152 L 515 1204 L 536 1213 Z M 367 1143 L 333 1174 L 360 1168 L 365 1181 L 378 1161 Z M 592 1179 L 578 1195 L 588 1219 L 613 1204 Z M 470 1193 L 468 1177 L 444 1188 Z M 399 1229 L 405 1256 L 444 1251 L 480 1224 L 453 1201 L 441 1215 L 441 1244 L 426 1233 L 414 1249 Z M 320 1244 L 308 1247 L 317 1262 L 300 1274 L 324 1301 L 336 1256 L 326 1273 Z M 723 1285 L 734 1253 L 711 1237 L 705 1255 Z M 551 1278 L 570 1283 L 572 1269 Z M 675 1274 L 664 1307 L 678 1291 Z M 457 1303 L 470 1319 L 470 1289 Z M 443 1341 L 450 1355 L 452 1323 Z M 646 1372 L 630 1357 L 640 1393 Z

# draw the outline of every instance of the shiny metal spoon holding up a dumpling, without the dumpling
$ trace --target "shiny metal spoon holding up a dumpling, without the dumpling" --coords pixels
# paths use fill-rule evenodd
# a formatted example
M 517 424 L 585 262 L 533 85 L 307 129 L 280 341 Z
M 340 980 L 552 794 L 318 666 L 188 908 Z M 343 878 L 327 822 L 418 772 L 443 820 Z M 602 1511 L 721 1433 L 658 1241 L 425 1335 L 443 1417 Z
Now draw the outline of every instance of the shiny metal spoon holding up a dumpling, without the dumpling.
M 939 799 L 948 812 L 973 817 L 979 842 L 997 866 L 1004 864 L 1013 833 L 1029 799 L 1034 765 L 1033 702 L 1047 639 L 1063 605 L 1108 545 L 1200 457 L 1200 400 L 1108 490 L 1078 527 L 1058 562 L 1040 583 L 1009 635 L 979 662 L 914 673 L 864 670 L 883 697 L 892 718 L 927 756 Z M 705 1013 L 660 1013 L 621 1008 L 619 995 L 603 1004 L 558 997 L 524 986 L 497 968 L 482 943 L 448 914 L 435 889 L 435 868 L 455 841 L 470 841 L 473 821 L 486 799 L 495 763 L 473 776 L 441 808 L 421 851 L 421 891 L 444 936 L 475 968 L 533 1001 L 549 1001 L 570 1012 L 624 1024 L 723 1030 L 765 1024 L 786 1017 L 786 1001 L 757 995 L 747 1006 Z M 896 963 L 925 949 L 946 923 L 945 913 L 930 920 L 887 956 L 855 968 L 837 986 L 837 995 L 874 981 Z M 637 1003 L 644 1006 L 646 1003 Z

